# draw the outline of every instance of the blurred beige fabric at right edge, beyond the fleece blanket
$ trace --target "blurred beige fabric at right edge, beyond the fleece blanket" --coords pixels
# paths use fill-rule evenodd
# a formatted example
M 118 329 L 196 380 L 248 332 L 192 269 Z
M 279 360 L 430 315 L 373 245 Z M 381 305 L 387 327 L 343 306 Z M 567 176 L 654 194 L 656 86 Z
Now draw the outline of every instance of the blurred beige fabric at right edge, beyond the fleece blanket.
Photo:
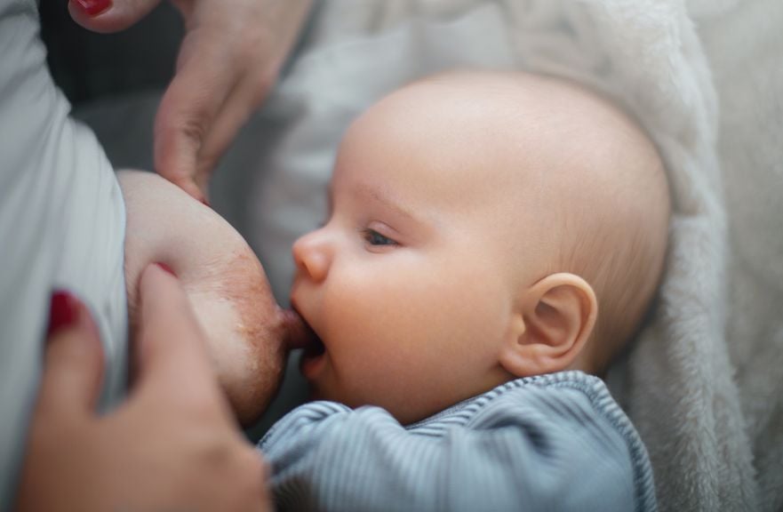
M 695 2 L 718 85 L 729 219 L 726 345 L 758 484 L 783 510 L 783 3 Z M 699 5 L 701 4 L 701 5 Z M 727 376 L 728 377 L 728 376 Z

